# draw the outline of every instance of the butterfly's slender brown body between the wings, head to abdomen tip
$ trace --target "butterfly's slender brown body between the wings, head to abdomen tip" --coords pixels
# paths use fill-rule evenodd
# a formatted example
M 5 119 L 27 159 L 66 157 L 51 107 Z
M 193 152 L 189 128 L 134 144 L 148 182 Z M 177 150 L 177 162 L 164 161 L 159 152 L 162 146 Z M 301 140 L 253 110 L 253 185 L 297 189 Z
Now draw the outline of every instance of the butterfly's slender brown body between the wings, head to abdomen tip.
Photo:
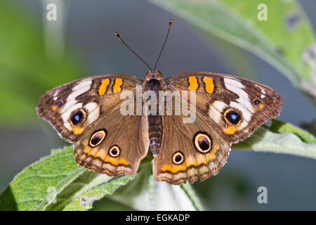
M 148 71 L 146 73 L 145 91 L 154 91 L 157 96 L 157 109 L 159 108 L 159 91 L 162 88 L 162 73 L 159 70 L 154 72 Z M 150 149 L 152 154 L 159 153 L 160 144 L 162 142 L 162 115 L 158 113 L 150 113 L 147 115 L 148 121 L 148 136 L 150 138 Z

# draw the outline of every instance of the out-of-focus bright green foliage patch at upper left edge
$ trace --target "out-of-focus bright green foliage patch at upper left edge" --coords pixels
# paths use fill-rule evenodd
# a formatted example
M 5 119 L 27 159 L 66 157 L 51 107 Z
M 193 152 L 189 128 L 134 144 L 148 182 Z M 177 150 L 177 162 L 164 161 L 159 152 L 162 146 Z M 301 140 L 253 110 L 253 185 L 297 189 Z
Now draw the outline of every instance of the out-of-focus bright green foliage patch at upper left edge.
M 46 52 L 39 21 L 27 8 L 0 0 L 0 123 L 36 118 L 39 97 L 55 86 L 79 78 L 74 56 Z M 51 21 L 56 23 L 56 21 Z M 51 37 L 53 39 L 53 37 Z

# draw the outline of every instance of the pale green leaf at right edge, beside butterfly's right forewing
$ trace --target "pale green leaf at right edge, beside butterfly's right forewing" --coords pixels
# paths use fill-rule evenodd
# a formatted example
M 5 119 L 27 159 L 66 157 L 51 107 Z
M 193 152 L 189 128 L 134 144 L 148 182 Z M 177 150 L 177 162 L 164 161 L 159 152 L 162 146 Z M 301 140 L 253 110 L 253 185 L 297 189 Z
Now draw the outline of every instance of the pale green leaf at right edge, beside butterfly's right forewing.
M 232 148 L 287 153 L 316 159 L 315 136 L 278 120 L 272 120 L 270 126 L 264 125 L 248 139 L 235 144 Z

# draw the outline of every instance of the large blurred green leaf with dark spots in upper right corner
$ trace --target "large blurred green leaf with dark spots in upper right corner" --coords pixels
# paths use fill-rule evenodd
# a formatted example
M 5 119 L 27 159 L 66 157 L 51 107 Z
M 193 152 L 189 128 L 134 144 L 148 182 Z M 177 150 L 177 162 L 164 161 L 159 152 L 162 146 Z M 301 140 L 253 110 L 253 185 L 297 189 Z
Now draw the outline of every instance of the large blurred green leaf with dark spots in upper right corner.
M 316 41 L 312 26 L 297 1 L 150 0 L 191 23 L 251 51 L 314 99 L 316 97 Z M 268 20 L 258 20 L 259 4 Z

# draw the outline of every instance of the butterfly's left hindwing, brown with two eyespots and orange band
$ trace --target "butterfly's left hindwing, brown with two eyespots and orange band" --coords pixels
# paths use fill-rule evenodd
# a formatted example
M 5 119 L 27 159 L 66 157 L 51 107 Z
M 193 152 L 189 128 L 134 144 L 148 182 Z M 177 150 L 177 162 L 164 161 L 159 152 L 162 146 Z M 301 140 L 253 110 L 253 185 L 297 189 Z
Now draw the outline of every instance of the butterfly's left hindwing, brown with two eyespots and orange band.
M 74 157 L 79 165 L 94 172 L 109 176 L 135 174 L 140 160 L 147 155 L 147 131 L 147 117 L 121 115 L 116 110 L 74 144 Z

